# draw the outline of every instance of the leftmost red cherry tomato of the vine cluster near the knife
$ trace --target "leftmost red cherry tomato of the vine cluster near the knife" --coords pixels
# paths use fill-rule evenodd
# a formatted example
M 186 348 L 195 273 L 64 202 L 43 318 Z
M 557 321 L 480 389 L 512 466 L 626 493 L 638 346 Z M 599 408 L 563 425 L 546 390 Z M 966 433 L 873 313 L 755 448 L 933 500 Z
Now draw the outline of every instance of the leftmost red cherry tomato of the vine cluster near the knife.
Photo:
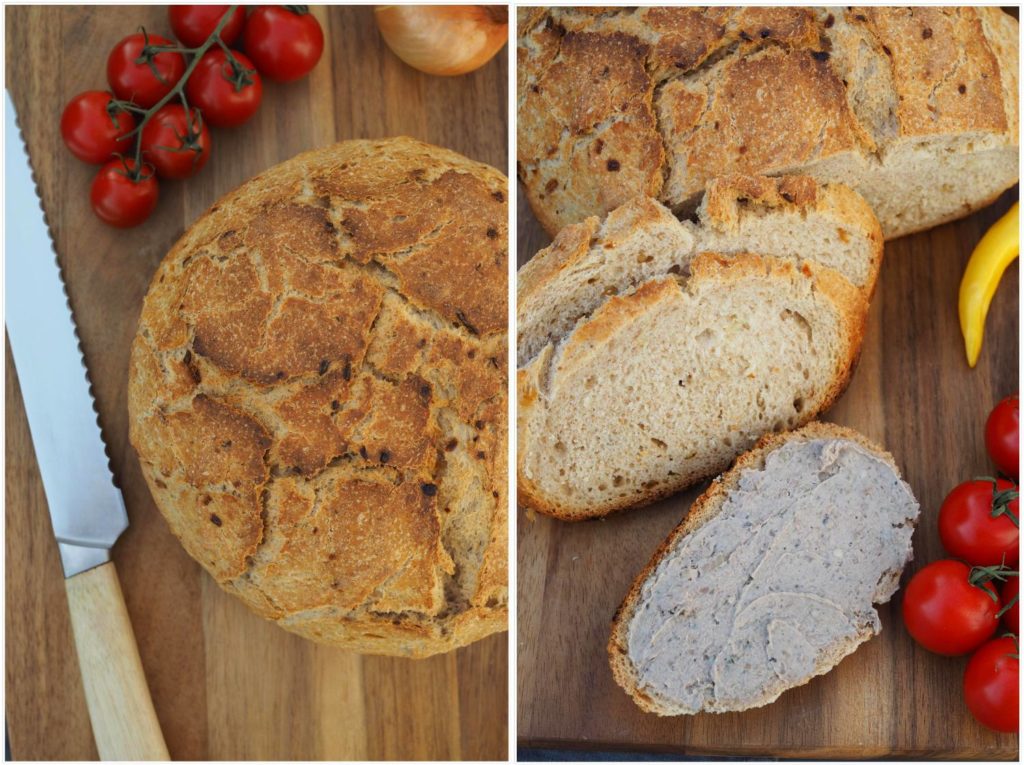
M 60 115 L 60 137 L 82 162 L 101 165 L 131 150 L 128 133 L 135 128 L 135 118 L 111 108 L 112 100 L 103 90 L 86 90 L 72 98 Z

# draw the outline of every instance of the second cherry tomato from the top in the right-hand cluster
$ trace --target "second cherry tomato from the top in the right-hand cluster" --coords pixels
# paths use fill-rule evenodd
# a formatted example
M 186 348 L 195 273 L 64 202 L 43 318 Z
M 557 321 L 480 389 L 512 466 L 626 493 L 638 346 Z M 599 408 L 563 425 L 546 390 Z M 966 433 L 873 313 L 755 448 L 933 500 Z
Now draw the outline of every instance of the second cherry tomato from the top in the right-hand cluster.
M 995 487 L 997 496 L 990 480 L 965 481 L 942 502 L 939 537 L 950 555 L 974 565 L 1017 564 L 1020 529 L 1012 518 L 1018 517 L 1018 500 L 1010 500 L 1012 495 L 1004 494 L 1015 494 L 1017 486 L 999 479 Z

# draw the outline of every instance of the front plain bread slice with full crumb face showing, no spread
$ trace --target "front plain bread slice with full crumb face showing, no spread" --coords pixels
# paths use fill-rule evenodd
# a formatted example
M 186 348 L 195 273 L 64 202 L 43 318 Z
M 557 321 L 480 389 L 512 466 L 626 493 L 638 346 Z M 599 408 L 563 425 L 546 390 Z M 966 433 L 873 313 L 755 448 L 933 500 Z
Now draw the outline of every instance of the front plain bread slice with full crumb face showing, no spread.
M 610 298 L 519 370 L 523 504 L 578 520 L 652 502 L 845 388 L 867 304 L 842 275 L 750 254 L 690 271 Z

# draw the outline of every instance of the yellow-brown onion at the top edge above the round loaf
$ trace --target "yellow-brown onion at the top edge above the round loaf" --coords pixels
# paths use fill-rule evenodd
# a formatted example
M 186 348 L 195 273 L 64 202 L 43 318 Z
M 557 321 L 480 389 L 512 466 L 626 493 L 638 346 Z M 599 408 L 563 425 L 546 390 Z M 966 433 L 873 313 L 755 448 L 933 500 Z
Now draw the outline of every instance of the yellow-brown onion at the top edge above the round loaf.
M 394 54 L 428 75 L 472 72 L 508 42 L 504 5 L 378 5 L 374 15 Z

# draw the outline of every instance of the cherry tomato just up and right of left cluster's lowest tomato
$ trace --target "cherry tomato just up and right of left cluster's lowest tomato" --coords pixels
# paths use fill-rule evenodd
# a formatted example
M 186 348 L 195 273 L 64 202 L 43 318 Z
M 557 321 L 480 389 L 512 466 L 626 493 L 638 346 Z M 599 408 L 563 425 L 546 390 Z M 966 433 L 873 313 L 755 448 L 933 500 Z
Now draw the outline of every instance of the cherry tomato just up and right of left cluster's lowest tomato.
M 193 176 L 210 159 L 210 129 L 198 109 L 190 115 L 180 103 L 168 103 L 142 128 L 142 158 L 162 178 Z

